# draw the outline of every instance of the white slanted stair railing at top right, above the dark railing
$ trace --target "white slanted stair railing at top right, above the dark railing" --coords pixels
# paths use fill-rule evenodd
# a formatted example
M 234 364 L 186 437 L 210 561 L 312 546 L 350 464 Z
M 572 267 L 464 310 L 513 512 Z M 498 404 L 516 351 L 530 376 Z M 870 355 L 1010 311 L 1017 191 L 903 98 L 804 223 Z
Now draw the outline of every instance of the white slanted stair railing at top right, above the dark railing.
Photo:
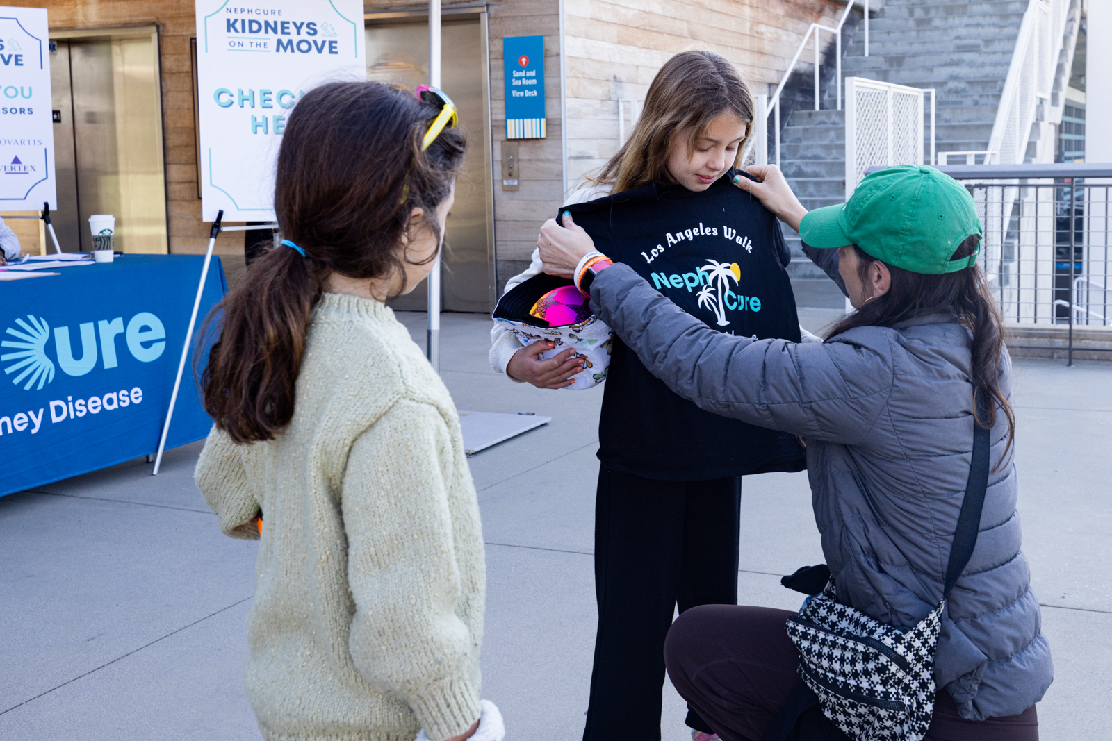
M 989 138 L 993 161 L 1023 162 L 1040 101 L 1049 102 L 1070 0 L 1030 0 Z

